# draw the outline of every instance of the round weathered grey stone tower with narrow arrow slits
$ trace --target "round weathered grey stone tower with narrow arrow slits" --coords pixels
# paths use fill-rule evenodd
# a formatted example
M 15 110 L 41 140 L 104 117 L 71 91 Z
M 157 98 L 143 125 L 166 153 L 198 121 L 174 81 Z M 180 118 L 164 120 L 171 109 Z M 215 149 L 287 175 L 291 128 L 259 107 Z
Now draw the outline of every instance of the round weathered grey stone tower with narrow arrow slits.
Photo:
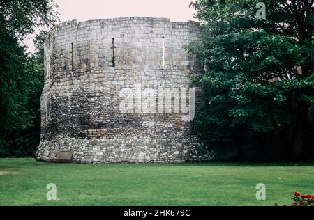
M 195 57 L 183 47 L 199 36 L 196 22 L 148 17 L 54 27 L 36 158 L 72 151 L 81 163 L 210 159 L 190 132 L 201 99 L 189 88 Z

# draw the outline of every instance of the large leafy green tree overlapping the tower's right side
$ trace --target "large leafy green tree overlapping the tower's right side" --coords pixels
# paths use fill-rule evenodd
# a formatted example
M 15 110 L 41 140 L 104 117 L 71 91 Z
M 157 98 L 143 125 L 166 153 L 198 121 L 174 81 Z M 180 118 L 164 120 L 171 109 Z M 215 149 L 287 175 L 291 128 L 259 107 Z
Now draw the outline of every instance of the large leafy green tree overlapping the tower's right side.
M 266 19 L 255 17 L 257 2 L 191 3 L 203 34 L 188 49 L 207 69 L 193 77 L 208 100 L 195 127 L 212 145 L 237 146 L 238 157 L 271 145 L 299 158 L 313 125 L 314 0 L 265 0 Z

